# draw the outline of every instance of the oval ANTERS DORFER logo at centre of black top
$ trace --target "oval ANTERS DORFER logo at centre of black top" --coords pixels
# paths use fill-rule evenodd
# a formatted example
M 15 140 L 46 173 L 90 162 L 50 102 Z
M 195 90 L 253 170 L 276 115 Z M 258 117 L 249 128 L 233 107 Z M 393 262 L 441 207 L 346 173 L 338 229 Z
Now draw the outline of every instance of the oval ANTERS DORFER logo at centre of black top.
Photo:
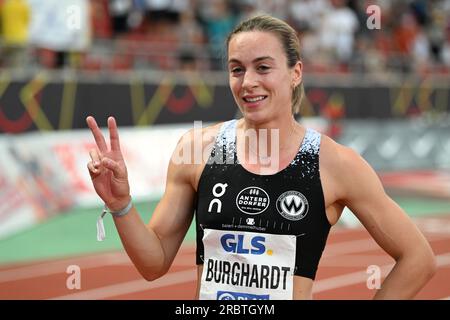
M 236 197 L 238 209 L 250 215 L 263 213 L 269 206 L 269 203 L 269 195 L 259 187 L 245 188 Z

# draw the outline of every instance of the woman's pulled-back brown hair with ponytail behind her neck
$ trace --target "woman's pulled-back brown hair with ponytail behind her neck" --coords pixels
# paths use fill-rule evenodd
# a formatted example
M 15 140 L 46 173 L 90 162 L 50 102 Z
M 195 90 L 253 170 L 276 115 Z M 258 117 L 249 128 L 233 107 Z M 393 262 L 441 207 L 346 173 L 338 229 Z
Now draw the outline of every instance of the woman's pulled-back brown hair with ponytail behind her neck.
M 272 32 L 280 39 L 287 58 L 289 68 L 295 66 L 300 61 L 300 41 L 295 30 L 286 22 L 269 15 L 258 15 L 241 22 L 227 38 L 227 48 L 231 38 L 235 34 L 247 31 Z M 303 81 L 292 91 L 292 113 L 300 111 L 300 103 L 303 98 Z

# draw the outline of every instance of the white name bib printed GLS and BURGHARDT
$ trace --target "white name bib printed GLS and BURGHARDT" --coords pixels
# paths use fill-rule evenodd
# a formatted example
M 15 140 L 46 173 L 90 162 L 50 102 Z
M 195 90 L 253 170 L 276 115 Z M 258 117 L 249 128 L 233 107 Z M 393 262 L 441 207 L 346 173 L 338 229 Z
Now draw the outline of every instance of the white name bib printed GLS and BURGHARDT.
M 296 239 L 204 229 L 200 299 L 292 300 Z

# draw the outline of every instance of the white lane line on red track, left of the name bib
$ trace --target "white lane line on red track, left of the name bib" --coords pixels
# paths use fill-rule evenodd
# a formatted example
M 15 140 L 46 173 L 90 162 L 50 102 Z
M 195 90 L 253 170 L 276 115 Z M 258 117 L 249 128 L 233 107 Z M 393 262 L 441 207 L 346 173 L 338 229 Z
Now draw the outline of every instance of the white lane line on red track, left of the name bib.
M 115 296 L 121 296 L 130 293 L 177 285 L 185 282 L 197 280 L 197 269 L 189 269 L 185 271 L 171 272 L 167 275 L 148 282 L 144 279 L 133 280 L 118 283 L 110 286 L 100 287 L 96 289 L 86 290 L 83 292 L 68 294 L 51 298 L 50 300 L 99 300 L 107 299 Z

